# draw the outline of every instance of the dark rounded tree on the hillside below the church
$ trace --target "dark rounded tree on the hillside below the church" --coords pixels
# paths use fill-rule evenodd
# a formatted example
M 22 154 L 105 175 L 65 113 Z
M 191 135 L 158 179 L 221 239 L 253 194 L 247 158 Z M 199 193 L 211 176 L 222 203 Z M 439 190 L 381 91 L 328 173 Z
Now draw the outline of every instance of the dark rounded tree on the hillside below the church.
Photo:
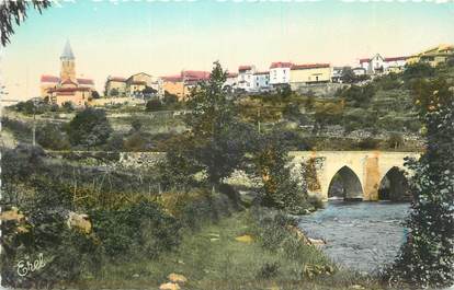
M 86 108 L 68 124 L 71 144 L 86 146 L 88 150 L 105 143 L 111 132 L 112 127 L 102 109 Z

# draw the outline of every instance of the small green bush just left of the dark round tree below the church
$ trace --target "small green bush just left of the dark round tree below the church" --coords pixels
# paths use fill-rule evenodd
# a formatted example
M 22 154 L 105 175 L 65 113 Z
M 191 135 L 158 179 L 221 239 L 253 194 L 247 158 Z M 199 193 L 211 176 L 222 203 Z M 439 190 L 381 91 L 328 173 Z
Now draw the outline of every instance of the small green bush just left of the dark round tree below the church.
M 38 144 L 50 150 L 66 150 L 70 148 L 67 136 L 60 126 L 46 123 L 36 129 L 36 141 Z

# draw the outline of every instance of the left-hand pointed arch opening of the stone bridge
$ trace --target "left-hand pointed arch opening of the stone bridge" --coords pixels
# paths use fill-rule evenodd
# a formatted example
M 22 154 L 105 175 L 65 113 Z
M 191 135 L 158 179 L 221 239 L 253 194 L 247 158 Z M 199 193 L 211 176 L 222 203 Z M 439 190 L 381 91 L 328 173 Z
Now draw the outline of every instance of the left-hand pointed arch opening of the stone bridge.
M 345 200 L 362 200 L 363 196 L 361 179 L 348 165 L 339 169 L 330 178 L 328 197 L 342 197 Z

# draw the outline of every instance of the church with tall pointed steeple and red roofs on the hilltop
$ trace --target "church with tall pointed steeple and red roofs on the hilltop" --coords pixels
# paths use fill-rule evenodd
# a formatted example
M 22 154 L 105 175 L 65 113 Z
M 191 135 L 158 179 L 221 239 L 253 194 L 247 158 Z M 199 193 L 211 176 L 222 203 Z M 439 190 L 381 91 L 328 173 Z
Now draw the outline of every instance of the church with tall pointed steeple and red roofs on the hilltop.
M 76 107 L 87 106 L 94 91 L 92 79 L 76 78 L 76 58 L 69 42 L 60 56 L 60 76 L 41 77 L 41 95 L 61 106 L 70 102 Z

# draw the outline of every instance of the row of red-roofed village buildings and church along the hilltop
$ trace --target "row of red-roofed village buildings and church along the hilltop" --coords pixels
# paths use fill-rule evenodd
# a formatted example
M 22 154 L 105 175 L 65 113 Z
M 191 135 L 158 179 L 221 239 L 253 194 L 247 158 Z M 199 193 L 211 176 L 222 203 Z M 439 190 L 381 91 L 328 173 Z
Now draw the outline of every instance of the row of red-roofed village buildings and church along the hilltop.
M 266 71 L 253 65 L 229 71 L 225 89 L 232 94 L 260 94 L 288 86 L 294 92 L 325 92 L 333 94 L 344 83 L 365 84 L 368 80 L 402 72 L 407 65 L 417 62 L 438 67 L 454 58 L 454 45 L 439 45 L 412 56 L 383 57 L 379 54 L 360 59 L 356 67 L 337 67 L 331 63 L 272 62 Z M 60 76 L 41 77 L 41 97 L 58 106 L 70 103 L 75 107 L 112 104 L 143 104 L 147 100 L 162 100 L 166 95 L 186 101 L 191 90 L 207 81 L 208 71 L 183 70 L 179 74 L 155 77 L 138 72 L 130 77 L 106 79 L 104 91 L 97 92 L 94 81 L 77 78 L 76 57 L 67 42 L 60 56 Z

